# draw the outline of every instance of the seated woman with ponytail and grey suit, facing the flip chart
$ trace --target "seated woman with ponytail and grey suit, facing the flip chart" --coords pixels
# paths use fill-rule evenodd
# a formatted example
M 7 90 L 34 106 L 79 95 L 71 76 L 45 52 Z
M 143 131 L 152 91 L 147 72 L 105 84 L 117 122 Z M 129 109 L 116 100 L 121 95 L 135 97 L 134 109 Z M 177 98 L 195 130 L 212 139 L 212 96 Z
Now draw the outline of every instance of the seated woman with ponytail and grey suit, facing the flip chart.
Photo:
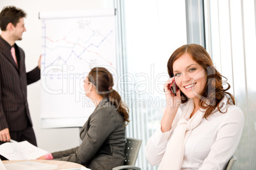
M 83 88 L 96 108 L 80 131 L 81 145 L 39 159 L 76 162 L 93 170 L 124 165 L 125 122 L 129 122 L 129 110 L 112 87 L 113 77 L 108 70 L 92 69 Z

